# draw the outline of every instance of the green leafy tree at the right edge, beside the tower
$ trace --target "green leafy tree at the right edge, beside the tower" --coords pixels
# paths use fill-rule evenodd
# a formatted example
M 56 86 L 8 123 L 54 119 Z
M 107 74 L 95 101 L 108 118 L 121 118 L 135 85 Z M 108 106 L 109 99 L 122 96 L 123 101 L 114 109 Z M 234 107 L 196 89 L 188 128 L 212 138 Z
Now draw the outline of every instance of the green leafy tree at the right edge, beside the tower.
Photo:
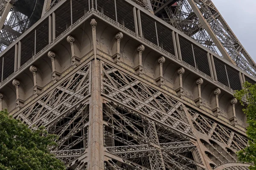
M 247 117 L 247 137 L 248 146 L 238 152 L 239 161 L 252 162 L 250 170 L 256 170 L 256 84 L 244 83 L 244 89 L 236 91 L 235 97 L 239 99 L 241 105 L 245 105 L 243 112 Z M 246 101 L 246 104 L 242 101 Z

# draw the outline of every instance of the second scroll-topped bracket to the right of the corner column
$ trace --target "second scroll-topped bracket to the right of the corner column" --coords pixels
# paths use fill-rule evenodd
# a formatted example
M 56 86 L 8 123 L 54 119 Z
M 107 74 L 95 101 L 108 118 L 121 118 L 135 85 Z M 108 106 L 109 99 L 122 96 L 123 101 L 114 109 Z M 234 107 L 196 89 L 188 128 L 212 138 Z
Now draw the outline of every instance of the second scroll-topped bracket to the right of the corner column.
M 139 45 L 139 47 L 137 48 L 137 51 L 135 51 L 135 54 L 134 54 L 134 70 L 138 75 L 141 74 L 143 70 L 142 53 L 144 50 L 145 50 L 144 45 Z

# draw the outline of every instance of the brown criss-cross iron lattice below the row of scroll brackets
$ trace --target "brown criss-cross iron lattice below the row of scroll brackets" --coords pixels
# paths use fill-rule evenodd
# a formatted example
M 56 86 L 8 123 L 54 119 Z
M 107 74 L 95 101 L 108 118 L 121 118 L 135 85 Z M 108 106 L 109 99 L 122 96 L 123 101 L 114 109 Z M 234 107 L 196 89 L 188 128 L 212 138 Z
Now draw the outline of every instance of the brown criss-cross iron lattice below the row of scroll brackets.
M 92 135 L 102 137 L 99 140 L 108 158 L 105 170 L 204 170 L 204 154 L 215 168 L 236 162 L 236 151 L 247 145 L 244 136 L 137 76 L 113 64 L 96 62 L 97 67 L 95 61 L 80 65 L 15 116 L 30 127 L 44 125 L 59 136 L 58 147 L 51 149 L 67 169 L 87 170 Z M 102 101 L 101 112 L 94 114 L 93 83 L 100 83 Z M 92 127 L 93 119 L 101 119 L 99 127 L 94 127 L 100 136 Z M 201 140 L 196 142 L 196 136 Z M 226 169 L 248 170 L 239 164 Z

